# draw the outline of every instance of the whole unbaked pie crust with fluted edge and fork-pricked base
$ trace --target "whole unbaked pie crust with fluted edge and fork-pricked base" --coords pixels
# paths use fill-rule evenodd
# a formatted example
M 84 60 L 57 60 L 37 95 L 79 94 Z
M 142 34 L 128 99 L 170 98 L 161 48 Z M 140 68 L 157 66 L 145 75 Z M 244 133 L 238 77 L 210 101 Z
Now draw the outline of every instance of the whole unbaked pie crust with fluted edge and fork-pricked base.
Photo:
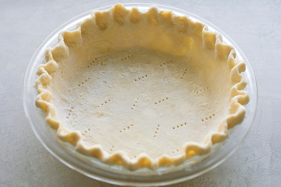
M 249 95 L 235 56 L 187 16 L 117 4 L 46 50 L 36 105 L 81 154 L 129 170 L 179 165 L 243 121 Z

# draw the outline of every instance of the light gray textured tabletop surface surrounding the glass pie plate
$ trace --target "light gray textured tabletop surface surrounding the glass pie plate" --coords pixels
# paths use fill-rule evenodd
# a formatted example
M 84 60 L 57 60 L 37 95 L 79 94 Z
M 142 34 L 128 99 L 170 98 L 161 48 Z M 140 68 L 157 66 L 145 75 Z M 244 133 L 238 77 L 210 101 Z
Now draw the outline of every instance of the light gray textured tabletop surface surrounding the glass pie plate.
M 130 1 L 0 0 L 0 186 L 112 186 L 71 170 L 33 134 L 22 106 L 27 63 L 40 42 L 72 17 Z M 224 163 L 173 186 L 281 186 L 281 2 L 141 1 L 192 12 L 225 31 L 253 66 L 259 105 L 251 131 Z

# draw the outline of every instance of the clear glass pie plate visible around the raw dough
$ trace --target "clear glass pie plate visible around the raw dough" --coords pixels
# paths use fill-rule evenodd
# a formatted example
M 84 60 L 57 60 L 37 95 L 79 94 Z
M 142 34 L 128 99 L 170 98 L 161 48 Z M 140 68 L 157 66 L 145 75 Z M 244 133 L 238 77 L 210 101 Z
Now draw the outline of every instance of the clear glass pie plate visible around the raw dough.
M 144 3 L 129 3 L 123 4 L 126 8 L 138 7 L 141 11 L 147 11 L 148 8 L 155 4 Z M 252 67 L 239 46 L 222 30 L 214 26 L 212 23 L 177 8 L 156 5 L 162 10 L 171 10 L 175 14 L 189 16 L 193 21 L 201 22 L 209 27 L 209 30 L 219 32 L 225 44 L 232 45 L 236 52 L 236 59 L 243 59 L 246 63 L 246 71 L 243 72 L 244 77 L 248 81 L 245 88 L 249 92 L 250 102 L 245 105 L 246 117 L 244 121 L 230 130 L 229 138 L 220 144 L 215 144 L 211 153 L 207 156 L 195 156 L 194 158 L 185 161 L 179 166 L 161 167 L 157 170 L 140 169 L 129 171 L 121 166 L 110 166 L 101 163 L 97 159 L 90 158 L 76 152 L 71 144 L 61 141 L 56 132 L 46 123 L 45 115 L 41 109 L 35 106 L 35 98 L 37 90 L 34 88 L 35 80 L 37 79 L 37 67 L 44 63 L 44 53 L 48 47 L 57 44 L 57 36 L 60 31 L 74 30 L 76 23 L 90 17 L 91 12 L 85 12 L 79 16 L 72 18 L 54 30 L 44 41 L 37 47 L 34 54 L 28 63 L 23 83 L 23 105 L 27 118 L 30 120 L 33 132 L 41 141 L 43 146 L 62 163 L 88 177 L 96 180 L 104 181 L 116 185 L 168 185 L 181 181 L 195 178 L 205 172 L 218 166 L 226 160 L 238 148 L 239 144 L 247 136 L 249 129 L 254 121 L 257 109 L 257 85 Z M 111 6 L 101 7 L 96 10 L 107 10 Z

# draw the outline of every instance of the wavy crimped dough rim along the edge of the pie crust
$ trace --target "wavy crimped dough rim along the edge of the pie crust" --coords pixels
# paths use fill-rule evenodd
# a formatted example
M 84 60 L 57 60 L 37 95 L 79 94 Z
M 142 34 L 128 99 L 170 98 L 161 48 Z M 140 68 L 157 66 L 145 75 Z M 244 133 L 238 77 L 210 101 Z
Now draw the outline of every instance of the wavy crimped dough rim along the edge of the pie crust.
M 111 12 L 114 20 L 119 24 L 122 24 L 122 19 L 118 19 L 118 16 L 122 15 L 122 12 L 128 13 L 131 18 L 136 18 L 136 15 L 145 15 L 146 17 L 161 16 L 161 13 L 166 16 L 168 21 L 174 23 L 174 18 L 179 18 L 173 12 L 167 12 L 159 10 L 157 7 L 152 6 L 147 12 L 141 12 L 137 8 L 127 10 L 121 4 L 116 4 L 111 9 L 104 11 Z M 94 11 L 91 14 L 92 20 L 96 20 L 96 24 L 99 29 L 106 29 L 106 25 L 103 22 L 98 22 L 98 18 L 102 20 L 102 12 Z M 153 14 L 154 13 L 154 14 Z M 168 16 L 167 16 L 168 15 Z M 117 17 L 117 18 L 116 18 Z M 122 18 L 122 17 L 121 17 Z M 189 17 L 180 17 L 183 22 L 189 22 L 192 24 L 200 24 L 193 22 Z M 153 19 L 153 18 L 152 18 Z M 131 19 L 131 22 L 137 22 L 136 19 Z M 193 156 L 202 156 L 210 153 L 212 145 L 224 141 L 229 136 L 228 129 L 233 128 L 235 125 L 241 123 L 245 117 L 245 107 L 243 105 L 249 102 L 249 93 L 243 90 L 247 81 L 242 76 L 241 72 L 245 71 L 245 63 L 243 60 L 236 61 L 236 52 L 232 46 L 223 44 L 222 37 L 219 33 L 211 32 L 205 25 L 202 26 L 202 38 L 203 43 L 209 49 L 214 49 L 216 55 L 219 58 L 227 59 L 227 64 L 231 69 L 230 80 L 234 85 L 230 89 L 229 97 L 229 114 L 226 115 L 219 123 L 216 132 L 210 132 L 204 139 L 204 143 L 196 143 L 193 141 L 185 142 L 181 147 L 181 152 L 176 156 L 168 156 L 163 154 L 157 158 L 151 158 L 146 153 L 140 153 L 136 158 L 131 159 L 124 151 L 115 151 L 109 154 L 100 144 L 90 145 L 82 140 L 82 133 L 78 130 L 67 129 L 62 122 L 58 121 L 55 116 L 55 107 L 50 102 L 52 99 L 52 93 L 46 88 L 51 83 L 52 77 L 50 74 L 57 71 L 57 62 L 66 60 L 69 55 L 68 46 L 66 40 L 70 42 L 81 42 L 81 25 L 76 25 L 74 31 L 62 31 L 58 36 L 58 43 L 53 48 L 48 48 L 45 53 L 45 64 L 39 65 L 37 69 L 36 89 L 38 95 L 36 97 L 36 106 L 41 108 L 46 113 L 46 121 L 49 125 L 57 131 L 57 136 L 65 142 L 71 143 L 76 151 L 79 153 L 99 159 L 101 162 L 108 165 L 121 165 L 128 170 L 137 170 L 141 168 L 157 169 L 163 166 L 180 165 L 185 160 L 192 158 Z M 70 36 L 74 36 L 71 38 Z M 69 42 L 68 41 L 68 42 Z M 55 60 L 54 60 L 55 59 Z

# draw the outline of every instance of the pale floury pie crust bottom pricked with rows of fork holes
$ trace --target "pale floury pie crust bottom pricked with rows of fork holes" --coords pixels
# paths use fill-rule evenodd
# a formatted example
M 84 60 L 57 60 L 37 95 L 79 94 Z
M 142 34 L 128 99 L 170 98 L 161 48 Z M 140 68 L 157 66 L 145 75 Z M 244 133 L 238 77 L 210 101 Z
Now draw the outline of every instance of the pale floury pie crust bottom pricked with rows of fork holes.
M 208 55 L 198 61 L 135 48 L 92 59 L 62 65 L 52 103 L 67 128 L 110 154 L 178 155 L 187 141 L 204 143 L 226 115 L 227 70 L 215 69 L 219 62 Z

